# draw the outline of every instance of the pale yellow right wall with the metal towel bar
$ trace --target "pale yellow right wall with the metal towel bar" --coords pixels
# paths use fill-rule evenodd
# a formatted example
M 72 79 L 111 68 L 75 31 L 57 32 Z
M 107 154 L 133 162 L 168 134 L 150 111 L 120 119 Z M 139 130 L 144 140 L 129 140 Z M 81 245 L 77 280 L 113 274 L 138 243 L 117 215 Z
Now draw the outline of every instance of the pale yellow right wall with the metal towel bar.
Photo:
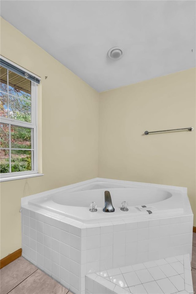
M 100 93 L 99 177 L 188 187 L 195 204 L 195 69 Z M 196 222 L 194 220 L 194 225 Z

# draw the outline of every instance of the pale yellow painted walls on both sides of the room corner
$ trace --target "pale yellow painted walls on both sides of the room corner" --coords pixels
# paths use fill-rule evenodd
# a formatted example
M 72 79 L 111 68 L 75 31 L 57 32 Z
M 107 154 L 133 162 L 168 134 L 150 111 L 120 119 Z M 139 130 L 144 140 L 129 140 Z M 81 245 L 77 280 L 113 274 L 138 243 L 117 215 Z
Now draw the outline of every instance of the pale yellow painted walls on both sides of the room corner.
M 188 187 L 195 212 L 195 131 L 142 135 L 195 127 L 194 69 L 99 94 L 2 18 L 0 49 L 42 78 L 44 173 L 1 183 L 1 258 L 21 247 L 21 197 L 98 175 Z

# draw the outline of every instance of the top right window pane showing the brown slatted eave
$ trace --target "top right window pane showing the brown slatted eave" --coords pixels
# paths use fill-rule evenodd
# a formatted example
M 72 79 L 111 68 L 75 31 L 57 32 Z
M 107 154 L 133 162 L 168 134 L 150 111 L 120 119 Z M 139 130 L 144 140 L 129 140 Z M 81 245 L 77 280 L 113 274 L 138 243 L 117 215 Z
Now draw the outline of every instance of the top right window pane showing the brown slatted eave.
M 8 71 L 9 94 L 31 100 L 31 81 Z

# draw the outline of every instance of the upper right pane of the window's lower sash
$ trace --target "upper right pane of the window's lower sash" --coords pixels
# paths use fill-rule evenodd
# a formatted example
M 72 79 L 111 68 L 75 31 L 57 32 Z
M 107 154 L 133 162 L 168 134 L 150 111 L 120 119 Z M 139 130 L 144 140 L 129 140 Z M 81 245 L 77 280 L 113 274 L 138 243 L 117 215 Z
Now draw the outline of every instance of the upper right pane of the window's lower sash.
M 31 149 L 31 129 L 11 125 L 11 148 Z

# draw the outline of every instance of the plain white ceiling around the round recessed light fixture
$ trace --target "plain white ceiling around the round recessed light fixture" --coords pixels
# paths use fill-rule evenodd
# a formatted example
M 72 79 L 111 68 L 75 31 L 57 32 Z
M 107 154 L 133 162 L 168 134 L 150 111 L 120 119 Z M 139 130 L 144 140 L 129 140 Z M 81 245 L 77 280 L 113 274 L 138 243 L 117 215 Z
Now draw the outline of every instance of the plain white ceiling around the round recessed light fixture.
M 194 67 L 195 4 L 1 1 L 1 15 L 102 92 Z M 116 46 L 124 56 L 111 60 Z

